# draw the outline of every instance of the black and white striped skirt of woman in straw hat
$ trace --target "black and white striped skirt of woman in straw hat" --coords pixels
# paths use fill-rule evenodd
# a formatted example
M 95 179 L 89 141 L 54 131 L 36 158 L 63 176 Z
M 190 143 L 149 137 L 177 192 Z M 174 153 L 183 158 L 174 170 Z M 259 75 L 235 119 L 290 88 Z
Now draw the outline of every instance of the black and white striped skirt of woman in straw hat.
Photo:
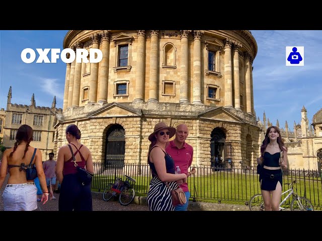
M 171 189 L 177 188 L 176 182 L 168 182 Z M 147 193 L 147 205 L 150 211 L 173 211 L 172 197 L 167 185 L 157 177 L 150 182 L 150 189 Z

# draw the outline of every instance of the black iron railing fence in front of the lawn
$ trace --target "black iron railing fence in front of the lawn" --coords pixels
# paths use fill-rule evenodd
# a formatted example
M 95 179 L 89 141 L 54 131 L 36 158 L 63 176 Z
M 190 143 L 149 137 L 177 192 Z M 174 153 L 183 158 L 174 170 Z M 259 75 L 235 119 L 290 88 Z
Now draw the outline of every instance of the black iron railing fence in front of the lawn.
M 196 201 L 220 202 L 232 201 L 247 203 L 250 198 L 260 193 L 259 176 L 256 170 L 225 167 L 197 166 L 195 175 L 188 178 L 191 198 Z M 103 192 L 109 183 L 114 183 L 116 177 L 125 180 L 128 175 L 136 180 L 134 189 L 137 195 L 146 195 L 152 178 L 148 164 L 106 165 L 94 163 L 95 178 L 92 188 Z M 322 208 L 321 174 L 314 170 L 283 171 L 283 190 L 286 184 L 297 180 L 295 191 L 308 198 L 314 207 Z M 285 196 L 282 196 L 282 199 Z M 289 204 L 290 199 L 286 204 Z

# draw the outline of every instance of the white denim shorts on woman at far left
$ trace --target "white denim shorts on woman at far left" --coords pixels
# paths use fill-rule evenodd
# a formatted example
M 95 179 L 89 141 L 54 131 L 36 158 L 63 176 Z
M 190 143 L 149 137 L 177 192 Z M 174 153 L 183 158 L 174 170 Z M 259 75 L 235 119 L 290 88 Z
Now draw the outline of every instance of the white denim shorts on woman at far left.
M 8 184 L 2 194 L 5 211 L 32 211 L 37 209 L 37 187 L 34 182 Z

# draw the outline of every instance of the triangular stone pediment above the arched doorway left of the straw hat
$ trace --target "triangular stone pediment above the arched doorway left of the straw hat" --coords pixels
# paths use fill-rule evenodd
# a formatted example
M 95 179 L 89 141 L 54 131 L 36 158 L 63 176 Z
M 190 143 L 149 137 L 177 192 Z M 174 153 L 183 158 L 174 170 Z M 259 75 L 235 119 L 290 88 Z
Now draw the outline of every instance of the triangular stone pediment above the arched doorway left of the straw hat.
M 120 103 L 110 103 L 98 110 L 89 113 L 88 117 L 140 116 L 141 110 L 133 109 Z

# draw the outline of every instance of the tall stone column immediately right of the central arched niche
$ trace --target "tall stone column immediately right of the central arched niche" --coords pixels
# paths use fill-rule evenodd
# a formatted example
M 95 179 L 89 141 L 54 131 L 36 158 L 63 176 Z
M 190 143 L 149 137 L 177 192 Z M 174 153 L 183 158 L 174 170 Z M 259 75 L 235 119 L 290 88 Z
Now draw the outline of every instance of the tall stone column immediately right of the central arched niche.
M 180 99 L 179 103 L 189 103 L 188 100 L 188 36 L 190 30 L 180 30 L 181 34 L 181 61 L 180 61 Z

